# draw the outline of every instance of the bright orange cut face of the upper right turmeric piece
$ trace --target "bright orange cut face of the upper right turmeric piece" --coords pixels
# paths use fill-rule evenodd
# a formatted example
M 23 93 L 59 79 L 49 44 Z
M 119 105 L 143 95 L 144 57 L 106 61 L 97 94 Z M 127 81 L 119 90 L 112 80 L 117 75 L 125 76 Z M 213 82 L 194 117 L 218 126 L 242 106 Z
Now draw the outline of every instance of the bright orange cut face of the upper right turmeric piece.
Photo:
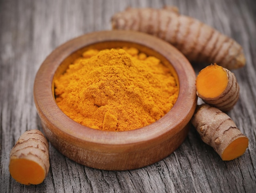
M 202 69 L 196 78 L 196 89 L 205 98 L 218 97 L 227 87 L 227 72 L 216 64 Z

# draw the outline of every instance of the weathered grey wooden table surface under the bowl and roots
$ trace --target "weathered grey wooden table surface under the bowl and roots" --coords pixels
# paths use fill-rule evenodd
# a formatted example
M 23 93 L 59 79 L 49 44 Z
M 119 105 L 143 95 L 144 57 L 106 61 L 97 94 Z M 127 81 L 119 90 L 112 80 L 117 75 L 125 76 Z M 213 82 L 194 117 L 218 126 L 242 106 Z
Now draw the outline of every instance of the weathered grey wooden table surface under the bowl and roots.
M 110 30 L 111 16 L 126 7 L 175 5 L 243 46 L 247 64 L 234 70 L 240 99 L 228 115 L 249 138 L 249 148 L 222 161 L 191 127 L 184 143 L 164 160 L 132 171 L 102 171 L 77 164 L 50 144 L 50 170 L 42 184 L 25 186 L 9 174 L 9 153 L 19 136 L 40 129 L 34 78 L 54 48 L 79 35 Z M 198 73 L 202 64 L 193 63 Z M 256 192 L 255 0 L 1 0 L 0 192 Z

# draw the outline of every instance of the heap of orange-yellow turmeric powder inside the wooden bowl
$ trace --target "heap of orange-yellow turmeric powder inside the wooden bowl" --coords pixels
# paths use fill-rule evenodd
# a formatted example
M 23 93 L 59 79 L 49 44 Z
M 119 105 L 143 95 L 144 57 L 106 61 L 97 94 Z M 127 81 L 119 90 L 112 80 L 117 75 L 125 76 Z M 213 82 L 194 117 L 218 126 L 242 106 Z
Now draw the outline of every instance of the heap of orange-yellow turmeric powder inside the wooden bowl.
M 104 131 L 151 124 L 172 108 L 178 95 L 168 67 L 126 47 L 85 51 L 54 84 L 56 103 L 68 117 Z

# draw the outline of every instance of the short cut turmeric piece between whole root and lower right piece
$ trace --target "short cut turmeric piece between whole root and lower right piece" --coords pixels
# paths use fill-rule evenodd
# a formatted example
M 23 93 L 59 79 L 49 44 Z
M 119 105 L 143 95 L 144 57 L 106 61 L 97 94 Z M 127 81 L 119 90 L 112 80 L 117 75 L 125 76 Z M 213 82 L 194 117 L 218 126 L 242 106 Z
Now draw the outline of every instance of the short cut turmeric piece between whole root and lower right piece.
M 229 111 L 239 98 L 239 85 L 234 73 L 216 63 L 202 69 L 196 78 L 198 97 L 221 111 Z

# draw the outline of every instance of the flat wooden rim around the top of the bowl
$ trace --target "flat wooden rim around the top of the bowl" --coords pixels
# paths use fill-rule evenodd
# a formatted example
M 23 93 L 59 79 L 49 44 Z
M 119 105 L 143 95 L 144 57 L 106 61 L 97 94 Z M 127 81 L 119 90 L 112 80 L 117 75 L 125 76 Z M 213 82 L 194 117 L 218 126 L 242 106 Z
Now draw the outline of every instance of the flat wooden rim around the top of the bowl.
M 106 41 L 140 44 L 160 53 L 171 62 L 178 76 L 179 95 L 174 106 L 166 115 L 148 126 L 117 132 L 101 131 L 83 126 L 68 118 L 59 109 L 52 93 L 52 81 L 59 64 L 79 49 Z M 181 99 L 180 96 L 183 98 Z M 107 146 L 128 145 L 145 140 L 150 140 L 151 145 L 154 145 L 160 138 L 168 140 L 170 136 L 177 134 L 188 124 L 195 111 L 196 101 L 195 71 L 186 57 L 168 42 L 137 31 L 96 31 L 69 40 L 47 56 L 38 69 L 34 82 L 34 102 L 40 119 L 53 133 L 64 140 L 74 140 L 74 144 L 77 146 L 84 146 L 84 142 Z

